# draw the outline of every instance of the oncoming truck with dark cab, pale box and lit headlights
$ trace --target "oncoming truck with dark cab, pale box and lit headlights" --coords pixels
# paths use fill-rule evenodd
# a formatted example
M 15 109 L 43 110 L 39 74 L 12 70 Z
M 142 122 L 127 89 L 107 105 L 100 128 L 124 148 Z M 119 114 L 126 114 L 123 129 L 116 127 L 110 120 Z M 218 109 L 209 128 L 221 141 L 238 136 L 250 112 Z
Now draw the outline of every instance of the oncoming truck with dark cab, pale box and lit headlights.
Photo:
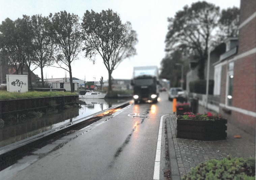
M 140 66 L 133 69 L 133 99 L 135 103 L 157 103 L 159 97 L 159 73 L 157 66 Z

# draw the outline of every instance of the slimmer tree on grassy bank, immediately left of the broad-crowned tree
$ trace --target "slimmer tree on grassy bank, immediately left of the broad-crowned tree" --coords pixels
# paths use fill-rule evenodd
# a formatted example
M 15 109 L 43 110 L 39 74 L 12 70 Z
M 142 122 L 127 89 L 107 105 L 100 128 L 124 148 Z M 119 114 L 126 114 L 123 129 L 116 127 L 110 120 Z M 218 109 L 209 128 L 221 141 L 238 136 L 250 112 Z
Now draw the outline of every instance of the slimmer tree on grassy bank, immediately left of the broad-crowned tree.
M 71 92 L 74 92 L 71 63 L 76 60 L 81 51 L 81 24 L 75 14 L 60 11 L 50 14 L 51 23 L 48 26 L 50 37 L 54 41 L 56 63 L 59 68 L 69 72 Z M 64 65 L 64 66 L 63 66 Z

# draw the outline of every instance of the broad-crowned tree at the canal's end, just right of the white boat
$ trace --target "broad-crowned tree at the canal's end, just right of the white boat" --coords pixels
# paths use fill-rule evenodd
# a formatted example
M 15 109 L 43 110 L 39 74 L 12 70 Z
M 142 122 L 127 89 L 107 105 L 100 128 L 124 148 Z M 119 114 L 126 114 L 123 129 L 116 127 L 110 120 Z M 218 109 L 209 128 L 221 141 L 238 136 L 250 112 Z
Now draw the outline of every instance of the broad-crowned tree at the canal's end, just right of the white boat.
M 130 22 L 122 24 L 119 15 L 112 9 L 95 13 L 86 11 L 83 16 L 83 38 L 85 56 L 95 61 L 100 55 L 108 70 L 109 87 L 112 91 L 111 75 L 118 64 L 136 54 L 137 34 Z

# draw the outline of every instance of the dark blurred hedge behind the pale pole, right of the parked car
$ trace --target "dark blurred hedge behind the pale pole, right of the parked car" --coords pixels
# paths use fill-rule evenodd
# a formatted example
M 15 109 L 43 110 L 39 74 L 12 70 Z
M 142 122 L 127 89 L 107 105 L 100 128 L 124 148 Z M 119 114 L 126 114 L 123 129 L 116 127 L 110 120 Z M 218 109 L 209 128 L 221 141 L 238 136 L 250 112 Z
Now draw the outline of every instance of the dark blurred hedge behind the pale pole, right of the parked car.
M 209 80 L 209 94 L 213 94 L 214 90 L 214 80 Z M 189 83 L 189 91 L 198 93 L 198 94 L 206 94 L 206 80 L 196 80 L 191 81 Z

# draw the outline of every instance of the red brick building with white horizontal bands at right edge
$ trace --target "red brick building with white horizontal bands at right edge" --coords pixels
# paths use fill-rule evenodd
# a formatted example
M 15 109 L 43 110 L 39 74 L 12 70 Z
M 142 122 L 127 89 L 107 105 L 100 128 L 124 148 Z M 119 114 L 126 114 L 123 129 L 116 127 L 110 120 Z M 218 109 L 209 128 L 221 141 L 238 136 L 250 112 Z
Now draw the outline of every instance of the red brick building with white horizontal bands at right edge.
M 226 41 L 220 72 L 219 113 L 250 134 L 256 129 L 256 1 L 240 1 L 238 46 Z M 233 47 L 232 47 L 233 44 Z M 215 83 L 218 81 L 215 79 Z

